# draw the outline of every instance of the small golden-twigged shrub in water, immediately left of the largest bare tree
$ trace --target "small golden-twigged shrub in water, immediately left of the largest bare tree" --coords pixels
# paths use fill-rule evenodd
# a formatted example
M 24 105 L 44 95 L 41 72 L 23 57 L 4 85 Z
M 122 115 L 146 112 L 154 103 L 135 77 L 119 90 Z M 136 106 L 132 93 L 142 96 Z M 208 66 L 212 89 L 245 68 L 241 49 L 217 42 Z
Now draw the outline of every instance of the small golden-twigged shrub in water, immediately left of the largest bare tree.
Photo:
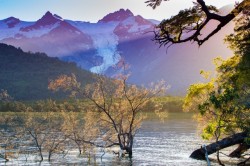
M 74 105 L 77 104 L 77 108 Z M 98 119 L 97 114 L 89 109 L 89 104 L 77 101 L 64 102 L 60 104 L 61 115 L 63 118 L 63 133 L 76 145 L 79 155 L 89 154 L 93 149 L 95 140 L 100 134 L 98 126 L 94 126 L 93 120 Z

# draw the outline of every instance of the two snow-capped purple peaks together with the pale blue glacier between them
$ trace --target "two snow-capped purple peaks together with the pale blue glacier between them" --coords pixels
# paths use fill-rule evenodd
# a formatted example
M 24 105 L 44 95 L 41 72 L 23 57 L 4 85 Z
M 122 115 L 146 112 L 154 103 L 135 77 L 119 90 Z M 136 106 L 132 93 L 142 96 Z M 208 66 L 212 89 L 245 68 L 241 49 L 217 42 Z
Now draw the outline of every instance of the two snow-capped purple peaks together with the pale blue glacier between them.
M 10 33 L 7 24 L 3 26 Z M 1 37 L 0 33 L 0 39 L 27 51 L 46 52 L 49 56 L 91 56 L 89 59 L 93 59 L 93 62 L 87 60 L 91 63 L 76 61 L 84 68 L 88 66 L 90 71 L 99 73 L 119 62 L 121 54 L 118 49 L 121 42 L 146 37 L 143 34 L 152 27 L 150 21 L 135 16 L 128 9 L 110 13 L 98 23 L 64 20 L 48 11 L 36 22 L 18 24 L 12 28 L 11 35 L 5 33 Z

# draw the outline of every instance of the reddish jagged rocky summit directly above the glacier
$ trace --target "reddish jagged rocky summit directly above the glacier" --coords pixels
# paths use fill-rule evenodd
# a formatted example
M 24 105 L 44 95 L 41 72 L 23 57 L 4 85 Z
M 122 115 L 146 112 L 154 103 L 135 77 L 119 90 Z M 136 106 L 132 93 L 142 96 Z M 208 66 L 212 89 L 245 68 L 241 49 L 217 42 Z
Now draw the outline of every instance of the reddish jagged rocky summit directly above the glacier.
M 101 22 L 107 23 L 111 21 L 123 21 L 131 16 L 134 16 L 134 14 L 129 9 L 127 10 L 120 9 L 119 11 L 106 15 L 101 20 L 99 20 L 98 23 L 101 23 Z

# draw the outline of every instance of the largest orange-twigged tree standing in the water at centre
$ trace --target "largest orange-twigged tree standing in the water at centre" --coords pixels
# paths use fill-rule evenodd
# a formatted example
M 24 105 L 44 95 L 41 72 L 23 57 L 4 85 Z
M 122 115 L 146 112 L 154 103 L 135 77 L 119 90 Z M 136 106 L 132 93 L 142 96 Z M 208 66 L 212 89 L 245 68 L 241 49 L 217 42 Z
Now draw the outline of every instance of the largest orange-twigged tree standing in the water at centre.
M 152 88 L 137 87 L 127 84 L 127 78 L 120 75 L 111 80 L 97 76 L 95 83 L 82 88 L 74 75 L 63 75 L 51 81 L 49 88 L 71 90 L 74 96 L 83 97 L 83 102 L 86 99 L 90 101 L 88 111 L 92 112 L 92 118 L 89 117 L 87 122 L 98 127 L 98 137 L 102 138 L 102 143 L 94 140 L 85 140 L 85 143 L 105 148 L 119 146 L 132 157 L 134 137 L 145 118 L 142 110 L 155 95 L 164 92 L 165 86 L 162 82 L 152 85 Z M 165 115 L 155 110 L 159 116 Z

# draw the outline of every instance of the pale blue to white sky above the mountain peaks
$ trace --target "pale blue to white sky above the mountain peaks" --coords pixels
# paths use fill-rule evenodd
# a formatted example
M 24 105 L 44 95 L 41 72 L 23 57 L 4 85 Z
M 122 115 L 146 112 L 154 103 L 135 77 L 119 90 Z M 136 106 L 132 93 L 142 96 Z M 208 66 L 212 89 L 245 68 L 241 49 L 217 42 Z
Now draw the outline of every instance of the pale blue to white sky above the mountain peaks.
M 120 8 L 130 9 L 135 15 L 162 20 L 192 5 L 192 0 L 170 0 L 156 10 L 144 3 L 146 0 L 0 0 L 0 20 L 14 16 L 25 21 L 41 18 L 46 11 L 65 19 L 96 22 Z M 218 8 L 234 0 L 206 0 Z

